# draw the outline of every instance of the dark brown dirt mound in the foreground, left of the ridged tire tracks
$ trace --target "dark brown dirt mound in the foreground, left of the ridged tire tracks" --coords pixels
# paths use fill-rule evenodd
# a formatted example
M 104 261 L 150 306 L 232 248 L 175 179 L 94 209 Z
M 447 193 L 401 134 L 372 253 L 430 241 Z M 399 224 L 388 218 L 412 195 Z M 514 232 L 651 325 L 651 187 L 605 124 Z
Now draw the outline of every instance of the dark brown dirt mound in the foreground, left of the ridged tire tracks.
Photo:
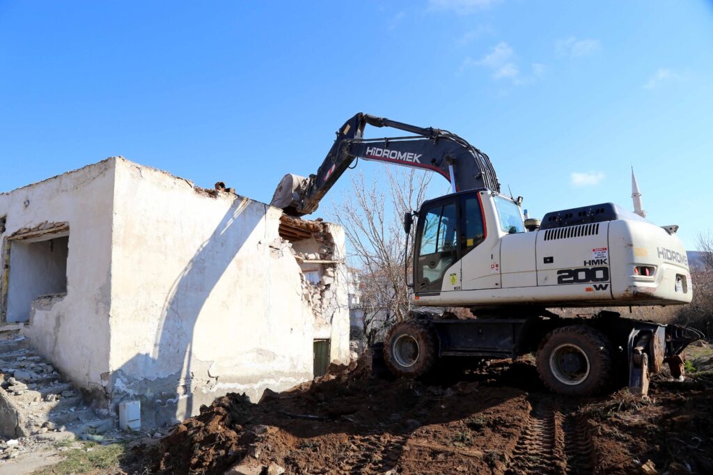
M 518 414 L 527 409 L 518 389 L 389 382 L 352 366 L 289 392 L 267 391 L 258 404 L 238 394 L 217 399 L 160 442 L 153 469 L 222 474 L 251 456 L 289 473 L 383 473 L 407 452 L 401 470 L 412 473 L 421 457 L 443 471 L 490 473 L 504 469 L 503 449 L 514 444 L 523 425 Z M 498 449 L 471 449 L 485 445 Z M 491 469 L 478 468 L 484 458 Z

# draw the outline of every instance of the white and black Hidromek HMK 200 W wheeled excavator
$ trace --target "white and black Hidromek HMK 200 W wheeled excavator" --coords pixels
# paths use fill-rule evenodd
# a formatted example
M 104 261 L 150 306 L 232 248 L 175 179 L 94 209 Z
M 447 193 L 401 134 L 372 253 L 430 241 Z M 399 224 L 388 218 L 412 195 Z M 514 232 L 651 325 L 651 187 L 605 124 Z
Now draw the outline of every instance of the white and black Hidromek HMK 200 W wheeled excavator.
M 367 125 L 409 135 L 364 138 Z M 384 362 L 396 377 L 424 377 L 453 358 L 534 353 L 545 386 L 570 396 L 617 382 L 647 394 L 650 374 L 663 364 L 683 378 L 682 351 L 703 337 L 698 330 L 606 310 L 576 318 L 550 310 L 691 302 L 677 225 L 657 226 L 612 203 L 525 219 L 523 198 L 501 192 L 488 155 L 465 139 L 365 113 L 339 128 L 316 175 L 285 175 L 272 205 L 294 216 L 314 213 L 359 159 L 431 170 L 451 183 L 450 193 L 404 217 L 407 235 L 417 218 L 410 266 L 416 310 L 384 340 Z M 424 307 L 465 307 L 473 317 L 434 317 Z

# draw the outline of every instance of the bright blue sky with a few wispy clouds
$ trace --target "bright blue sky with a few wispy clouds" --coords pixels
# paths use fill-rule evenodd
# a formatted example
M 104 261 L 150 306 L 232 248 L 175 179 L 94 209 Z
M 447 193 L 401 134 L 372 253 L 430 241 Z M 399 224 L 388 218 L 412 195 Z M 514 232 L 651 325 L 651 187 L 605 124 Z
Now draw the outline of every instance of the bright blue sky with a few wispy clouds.
M 0 190 L 123 155 L 269 201 L 364 111 L 468 139 L 530 215 L 630 208 L 633 165 L 655 223 L 713 228 L 709 1 L 203 5 L 0 0 Z

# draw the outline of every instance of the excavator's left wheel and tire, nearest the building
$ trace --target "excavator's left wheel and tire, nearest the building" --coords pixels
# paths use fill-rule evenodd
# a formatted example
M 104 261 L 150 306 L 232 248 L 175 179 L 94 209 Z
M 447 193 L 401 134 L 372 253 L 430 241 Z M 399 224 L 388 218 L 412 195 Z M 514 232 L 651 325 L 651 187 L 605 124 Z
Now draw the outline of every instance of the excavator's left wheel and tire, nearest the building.
M 438 359 L 436 335 L 429 322 L 397 323 L 384 340 L 384 362 L 396 376 L 417 378 L 428 374 Z

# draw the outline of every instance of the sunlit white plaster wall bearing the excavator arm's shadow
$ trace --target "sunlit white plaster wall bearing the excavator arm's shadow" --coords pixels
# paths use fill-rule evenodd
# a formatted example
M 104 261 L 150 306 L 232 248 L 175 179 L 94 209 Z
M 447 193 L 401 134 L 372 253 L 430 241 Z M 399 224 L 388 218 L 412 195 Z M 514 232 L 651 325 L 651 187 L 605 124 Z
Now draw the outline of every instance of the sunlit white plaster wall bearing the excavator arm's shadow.
M 280 213 L 118 161 L 108 389 L 155 404 L 144 416 L 158 421 L 312 378 L 314 317 Z

